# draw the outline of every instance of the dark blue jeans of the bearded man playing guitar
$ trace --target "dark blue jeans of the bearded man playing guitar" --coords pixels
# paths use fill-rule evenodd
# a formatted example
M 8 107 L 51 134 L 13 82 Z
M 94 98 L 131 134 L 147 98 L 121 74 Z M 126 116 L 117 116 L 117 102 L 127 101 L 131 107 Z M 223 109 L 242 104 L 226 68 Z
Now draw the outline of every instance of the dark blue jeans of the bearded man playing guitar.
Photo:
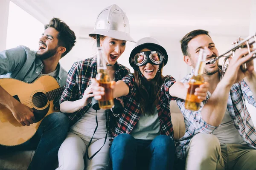
M 46 116 L 35 135 L 27 142 L 12 146 L 0 146 L 4 152 L 15 150 L 35 150 L 28 170 L 51 170 L 58 160 L 58 149 L 67 136 L 69 119 L 64 113 L 52 113 Z

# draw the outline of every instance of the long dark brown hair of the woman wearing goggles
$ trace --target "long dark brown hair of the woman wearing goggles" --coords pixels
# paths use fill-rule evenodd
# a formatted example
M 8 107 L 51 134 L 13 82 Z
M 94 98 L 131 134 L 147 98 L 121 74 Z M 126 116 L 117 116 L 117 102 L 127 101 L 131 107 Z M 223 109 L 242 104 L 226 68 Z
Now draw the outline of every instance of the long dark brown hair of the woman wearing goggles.
M 163 62 L 159 65 L 159 73 L 148 82 L 143 74 L 134 70 L 134 81 L 137 88 L 137 101 L 140 103 L 140 110 L 143 115 L 154 114 L 154 108 L 159 103 L 159 94 L 163 83 Z

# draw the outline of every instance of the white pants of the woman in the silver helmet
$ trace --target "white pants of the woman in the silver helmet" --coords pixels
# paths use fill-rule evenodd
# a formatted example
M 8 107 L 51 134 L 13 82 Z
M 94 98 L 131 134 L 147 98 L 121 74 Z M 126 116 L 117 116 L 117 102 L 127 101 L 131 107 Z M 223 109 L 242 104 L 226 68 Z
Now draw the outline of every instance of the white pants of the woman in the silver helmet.
M 98 139 L 93 142 L 88 150 L 89 157 L 96 153 L 99 148 L 102 149 L 93 157 L 88 160 L 85 155 L 87 144 L 77 136 L 75 133 L 67 133 L 67 138 L 61 144 L 58 151 L 58 162 L 59 167 L 56 170 L 105 170 L 109 163 L 109 141 L 110 137 L 107 138 L 104 144 L 105 138 Z M 89 141 L 88 141 L 89 142 Z M 84 168 L 84 163 L 87 168 Z

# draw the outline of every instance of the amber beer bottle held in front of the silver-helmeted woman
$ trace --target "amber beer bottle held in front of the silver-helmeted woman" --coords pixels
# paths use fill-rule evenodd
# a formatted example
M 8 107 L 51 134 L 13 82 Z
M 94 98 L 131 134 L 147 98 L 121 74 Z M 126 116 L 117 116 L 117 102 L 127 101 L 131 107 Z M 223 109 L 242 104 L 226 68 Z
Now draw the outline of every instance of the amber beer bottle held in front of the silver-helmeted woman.
M 111 88 L 111 79 L 107 73 L 106 60 L 103 57 L 101 47 L 97 47 L 97 75 L 96 79 L 99 85 L 105 88 L 105 95 L 99 100 L 99 108 L 110 109 L 114 106 L 113 91 Z

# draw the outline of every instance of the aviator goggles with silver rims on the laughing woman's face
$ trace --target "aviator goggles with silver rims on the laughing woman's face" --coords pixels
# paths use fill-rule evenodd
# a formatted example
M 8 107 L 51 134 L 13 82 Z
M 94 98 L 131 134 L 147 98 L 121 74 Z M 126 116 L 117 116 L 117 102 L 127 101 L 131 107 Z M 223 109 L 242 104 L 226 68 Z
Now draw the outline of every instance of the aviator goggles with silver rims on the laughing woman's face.
M 159 51 L 144 51 L 135 54 L 130 62 L 134 62 L 137 66 L 146 65 L 148 62 L 154 65 L 159 65 L 163 62 L 163 55 Z

